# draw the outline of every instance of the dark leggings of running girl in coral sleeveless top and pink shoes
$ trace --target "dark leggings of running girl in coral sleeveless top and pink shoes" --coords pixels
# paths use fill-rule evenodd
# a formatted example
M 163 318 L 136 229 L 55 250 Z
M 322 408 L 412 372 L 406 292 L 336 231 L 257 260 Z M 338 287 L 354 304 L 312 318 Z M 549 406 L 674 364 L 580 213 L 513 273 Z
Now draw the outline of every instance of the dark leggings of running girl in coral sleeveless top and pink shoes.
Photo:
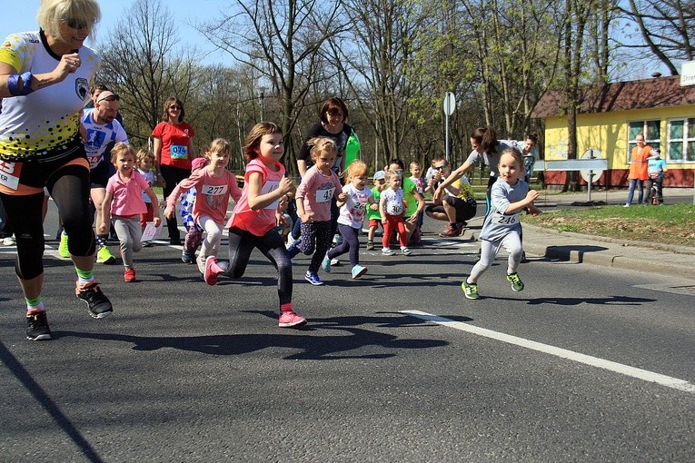
M 263 236 L 256 236 L 235 227 L 230 228 L 229 261 L 218 261 L 217 264 L 228 277 L 235 280 L 242 278 L 253 248 L 263 252 L 278 271 L 277 293 L 280 306 L 292 302 L 292 261 L 278 232 L 271 230 Z

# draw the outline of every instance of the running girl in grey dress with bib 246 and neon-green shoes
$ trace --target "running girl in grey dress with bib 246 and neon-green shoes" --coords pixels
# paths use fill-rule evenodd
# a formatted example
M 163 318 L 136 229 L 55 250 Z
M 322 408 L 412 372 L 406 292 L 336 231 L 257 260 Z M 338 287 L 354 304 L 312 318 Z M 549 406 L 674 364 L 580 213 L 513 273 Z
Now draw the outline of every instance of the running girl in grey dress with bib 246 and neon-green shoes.
M 523 253 L 519 216 L 538 197 L 538 192 L 530 191 L 529 184 L 519 178 L 523 174 L 523 161 L 517 150 L 507 149 L 501 153 L 498 171 L 500 176 L 491 187 L 490 213 L 482 223 L 481 259 L 461 285 L 467 299 L 478 299 L 478 279 L 502 246 L 509 252 L 507 281 L 511 282 L 511 290 L 523 290 L 523 282 L 516 271 Z

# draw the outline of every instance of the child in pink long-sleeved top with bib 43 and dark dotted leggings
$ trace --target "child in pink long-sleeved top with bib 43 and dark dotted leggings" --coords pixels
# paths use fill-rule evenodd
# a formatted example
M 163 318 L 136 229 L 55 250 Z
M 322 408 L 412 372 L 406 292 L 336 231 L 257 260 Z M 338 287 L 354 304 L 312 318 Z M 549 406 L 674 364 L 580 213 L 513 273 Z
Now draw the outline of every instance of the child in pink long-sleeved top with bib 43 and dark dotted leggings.
M 313 252 L 304 280 L 321 286 L 323 281 L 319 278 L 319 267 L 333 241 L 331 200 L 336 190 L 340 192 L 336 196 L 338 201 L 344 202 L 347 195 L 343 193 L 340 178 L 331 169 L 338 155 L 335 142 L 330 138 L 314 137 L 307 144 L 311 146 L 313 166 L 304 173 L 295 196 L 302 234 L 287 251 L 290 259 L 300 251 L 307 256 Z

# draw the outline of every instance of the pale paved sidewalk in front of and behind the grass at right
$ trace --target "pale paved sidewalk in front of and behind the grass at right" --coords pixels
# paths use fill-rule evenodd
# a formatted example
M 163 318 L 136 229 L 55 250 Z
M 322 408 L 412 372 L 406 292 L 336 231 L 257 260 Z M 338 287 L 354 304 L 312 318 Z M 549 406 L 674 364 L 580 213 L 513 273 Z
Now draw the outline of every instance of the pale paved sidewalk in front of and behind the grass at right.
M 667 203 L 692 203 L 692 189 L 666 189 Z M 625 202 L 626 191 L 591 192 L 591 202 L 620 205 Z M 637 197 L 637 193 L 635 193 Z M 541 192 L 536 205 L 545 211 L 586 207 L 587 192 L 554 194 Z M 464 240 L 478 240 L 482 217 L 469 222 L 462 235 Z M 640 241 L 624 241 L 557 232 L 523 224 L 523 249 L 529 257 L 545 257 L 576 263 L 591 263 L 616 269 L 649 271 L 695 280 L 695 248 L 687 246 L 654 245 Z

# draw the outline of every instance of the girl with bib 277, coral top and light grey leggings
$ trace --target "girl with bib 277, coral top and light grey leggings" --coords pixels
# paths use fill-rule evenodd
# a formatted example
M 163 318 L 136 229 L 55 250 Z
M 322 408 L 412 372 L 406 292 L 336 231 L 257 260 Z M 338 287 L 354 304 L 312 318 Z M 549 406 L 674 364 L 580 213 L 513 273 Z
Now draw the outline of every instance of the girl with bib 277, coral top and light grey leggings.
M 208 256 L 217 255 L 222 240 L 224 216 L 227 214 L 229 197 L 238 202 L 242 196 L 239 186 L 236 184 L 236 175 L 227 170 L 231 146 L 223 138 L 216 138 L 210 143 L 207 157 L 210 164 L 198 172 L 191 174 L 187 179 L 179 182 L 174 192 L 169 194 L 166 200 L 167 219 L 174 217 L 176 199 L 181 192 L 195 188 L 195 203 L 193 208 L 194 221 L 207 232 L 200 252 L 198 253 L 198 270 L 205 272 L 205 259 Z

